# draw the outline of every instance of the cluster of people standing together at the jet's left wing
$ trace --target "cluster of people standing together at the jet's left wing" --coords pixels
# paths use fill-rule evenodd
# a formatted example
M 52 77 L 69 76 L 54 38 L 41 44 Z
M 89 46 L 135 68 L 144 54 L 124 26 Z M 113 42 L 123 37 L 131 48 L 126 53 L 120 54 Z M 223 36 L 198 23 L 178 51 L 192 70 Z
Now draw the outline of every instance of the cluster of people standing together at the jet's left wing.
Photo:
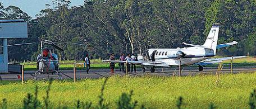
M 115 60 L 115 54 L 111 54 L 109 57 L 109 60 Z M 136 61 L 138 60 L 136 58 L 136 56 L 134 54 L 127 54 L 127 56 L 125 56 L 125 54 L 121 54 L 121 56 L 119 57 L 119 60 L 121 61 Z M 115 63 L 110 63 L 109 68 L 111 70 L 111 73 L 115 73 Z M 125 63 L 120 63 L 119 64 L 119 68 L 120 68 L 120 72 L 125 73 Z M 128 64 L 127 65 L 127 70 L 129 73 L 132 73 L 134 69 L 134 73 L 136 73 L 136 65 L 135 64 Z

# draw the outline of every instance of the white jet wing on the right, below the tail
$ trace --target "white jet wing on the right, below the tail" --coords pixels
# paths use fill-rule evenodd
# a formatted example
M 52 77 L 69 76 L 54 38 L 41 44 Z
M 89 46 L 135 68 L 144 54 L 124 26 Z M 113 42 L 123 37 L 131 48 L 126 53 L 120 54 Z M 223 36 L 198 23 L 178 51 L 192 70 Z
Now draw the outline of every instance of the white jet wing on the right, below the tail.
M 245 58 L 247 56 L 233 56 L 233 59 L 237 58 Z M 209 64 L 215 64 L 215 63 L 222 63 L 223 60 L 230 60 L 232 57 L 226 57 L 226 58 L 209 58 L 202 61 L 199 61 L 198 63 L 195 63 L 194 65 L 209 65 Z

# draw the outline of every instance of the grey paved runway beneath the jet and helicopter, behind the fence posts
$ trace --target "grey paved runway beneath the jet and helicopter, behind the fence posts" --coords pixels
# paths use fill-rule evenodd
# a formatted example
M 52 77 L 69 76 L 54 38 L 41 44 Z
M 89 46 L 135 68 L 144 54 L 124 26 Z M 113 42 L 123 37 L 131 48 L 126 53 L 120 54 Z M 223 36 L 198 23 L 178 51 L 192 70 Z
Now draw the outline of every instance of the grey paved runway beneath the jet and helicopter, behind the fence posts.
M 186 75 L 197 75 L 197 74 L 215 74 L 217 71 L 217 67 L 204 67 L 203 72 L 199 72 L 197 67 L 185 67 L 182 68 L 182 76 Z M 150 73 L 150 69 L 147 69 L 145 73 L 141 72 L 141 69 L 138 68 L 136 73 L 128 74 L 129 76 L 143 76 L 143 75 L 157 75 L 157 76 L 173 76 L 179 75 L 179 68 L 156 68 L 155 73 Z M 73 70 L 60 70 L 63 79 L 73 79 L 74 73 Z M 85 70 L 76 70 L 76 78 L 77 79 L 85 79 L 85 78 L 102 78 L 109 77 L 111 74 L 109 73 L 109 69 L 91 69 L 89 74 L 86 74 Z M 221 70 L 222 73 L 230 73 L 230 67 L 224 67 Z M 256 66 L 250 67 L 234 67 L 233 73 L 241 73 L 241 72 L 256 72 Z M 33 79 L 35 71 L 25 71 L 24 79 Z M 125 75 L 125 73 L 119 72 L 119 69 L 115 70 L 114 75 Z M 21 74 L 0 74 L 0 80 L 21 80 Z M 58 79 L 56 74 L 41 74 L 37 76 L 37 79 L 49 79 L 54 78 Z

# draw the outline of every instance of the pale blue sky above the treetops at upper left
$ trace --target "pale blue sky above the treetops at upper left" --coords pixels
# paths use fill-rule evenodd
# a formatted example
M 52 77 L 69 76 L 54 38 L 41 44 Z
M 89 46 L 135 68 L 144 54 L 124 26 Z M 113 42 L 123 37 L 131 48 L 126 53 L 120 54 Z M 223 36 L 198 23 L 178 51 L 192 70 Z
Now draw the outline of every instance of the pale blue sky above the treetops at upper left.
M 84 4 L 84 0 L 70 0 L 71 6 L 79 6 Z M 47 8 L 45 4 L 51 4 L 52 0 L 1 0 L 4 7 L 16 6 L 22 11 L 28 13 L 29 16 L 35 18 L 42 9 Z

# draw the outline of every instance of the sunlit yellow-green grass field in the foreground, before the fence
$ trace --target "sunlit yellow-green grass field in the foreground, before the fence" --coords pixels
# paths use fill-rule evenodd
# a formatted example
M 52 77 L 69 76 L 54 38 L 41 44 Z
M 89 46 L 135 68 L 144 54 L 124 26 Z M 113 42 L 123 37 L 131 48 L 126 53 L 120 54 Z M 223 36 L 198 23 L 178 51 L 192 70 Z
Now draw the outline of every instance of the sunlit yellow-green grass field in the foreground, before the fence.
M 110 77 L 104 90 L 104 104 L 116 108 L 121 93 L 134 91 L 132 101 L 147 108 L 176 108 L 179 96 L 184 98 L 182 108 L 208 108 L 214 103 L 218 108 L 249 108 L 249 94 L 256 89 L 256 73 L 221 74 L 195 77 Z M 52 107 L 75 107 L 77 99 L 98 104 L 102 79 L 84 79 L 76 83 L 68 80 L 54 80 L 49 98 Z M 27 93 L 34 93 L 39 87 L 39 100 L 43 104 L 48 82 L 29 80 L 20 82 L 0 81 L 0 99 L 7 98 L 10 108 L 22 107 Z

